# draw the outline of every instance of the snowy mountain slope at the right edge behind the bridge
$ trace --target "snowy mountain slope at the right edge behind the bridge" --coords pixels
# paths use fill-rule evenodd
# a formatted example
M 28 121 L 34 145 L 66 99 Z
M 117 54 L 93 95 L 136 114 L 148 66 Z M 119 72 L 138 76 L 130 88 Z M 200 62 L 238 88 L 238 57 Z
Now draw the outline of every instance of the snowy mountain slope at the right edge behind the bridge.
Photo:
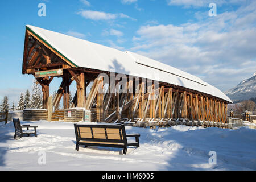
M 243 80 L 236 87 L 225 92 L 231 100 L 247 100 L 251 97 L 256 97 L 256 75 Z

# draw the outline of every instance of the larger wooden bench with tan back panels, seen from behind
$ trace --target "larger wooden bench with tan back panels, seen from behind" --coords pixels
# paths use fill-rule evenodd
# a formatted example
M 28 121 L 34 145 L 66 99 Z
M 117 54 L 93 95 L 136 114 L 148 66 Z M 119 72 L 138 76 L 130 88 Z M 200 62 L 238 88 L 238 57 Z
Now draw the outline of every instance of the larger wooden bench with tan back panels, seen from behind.
M 79 146 L 101 146 L 123 148 L 126 154 L 128 146 L 139 147 L 140 134 L 126 134 L 125 125 L 77 125 L 76 150 Z M 135 137 L 135 142 L 127 142 L 127 137 Z

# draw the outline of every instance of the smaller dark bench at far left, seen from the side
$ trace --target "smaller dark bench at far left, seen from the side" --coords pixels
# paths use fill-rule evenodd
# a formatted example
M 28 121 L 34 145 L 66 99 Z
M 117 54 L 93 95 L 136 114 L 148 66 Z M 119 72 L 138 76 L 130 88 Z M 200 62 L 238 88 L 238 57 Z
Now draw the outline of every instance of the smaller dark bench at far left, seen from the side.
M 30 126 L 30 125 L 20 125 L 19 118 L 15 119 L 13 118 L 13 123 L 14 123 L 14 128 L 15 128 L 15 134 L 14 134 L 14 139 L 18 136 L 19 138 L 24 137 L 24 135 L 27 135 L 27 137 L 30 136 L 30 134 L 34 134 L 35 137 L 38 137 L 36 134 L 36 128 L 38 126 Z M 23 131 L 23 129 L 26 128 L 27 131 Z M 30 128 L 34 128 L 34 131 L 28 131 Z

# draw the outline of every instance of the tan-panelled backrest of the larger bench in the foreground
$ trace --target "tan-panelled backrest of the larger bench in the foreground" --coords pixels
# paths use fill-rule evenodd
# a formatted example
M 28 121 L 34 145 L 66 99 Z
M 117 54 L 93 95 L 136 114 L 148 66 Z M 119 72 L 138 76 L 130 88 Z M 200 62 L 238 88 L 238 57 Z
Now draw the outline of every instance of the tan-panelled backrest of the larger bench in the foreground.
M 77 125 L 76 140 L 127 144 L 125 125 Z

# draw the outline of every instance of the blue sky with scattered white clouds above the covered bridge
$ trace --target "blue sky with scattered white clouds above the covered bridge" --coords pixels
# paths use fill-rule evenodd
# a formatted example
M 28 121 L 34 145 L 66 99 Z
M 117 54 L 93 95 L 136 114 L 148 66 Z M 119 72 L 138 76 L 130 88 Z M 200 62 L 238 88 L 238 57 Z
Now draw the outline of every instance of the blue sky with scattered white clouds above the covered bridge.
M 217 16 L 210 17 L 212 2 Z M 228 90 L 256 71 L 255 7 L 246 0 L 0 1 L 0 99 L 16 103 L 32 86 L 21 73 L 26 24 L 141 53 Z M 60 83 L 53 80 L 51 92 Z

